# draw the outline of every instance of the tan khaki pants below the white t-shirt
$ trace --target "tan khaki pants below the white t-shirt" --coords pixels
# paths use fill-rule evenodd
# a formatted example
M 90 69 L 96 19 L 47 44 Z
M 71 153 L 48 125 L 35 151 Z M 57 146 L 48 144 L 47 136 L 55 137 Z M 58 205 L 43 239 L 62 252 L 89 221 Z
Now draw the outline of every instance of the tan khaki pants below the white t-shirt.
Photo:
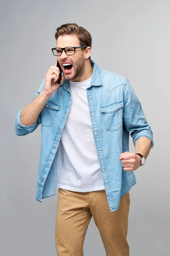
M 93 216 L 106 256 L 129 256 L 127 224 L 129 192 L 119 209 L 110 212 L 105 189 L 92 192 L 58 191 L 55 243 L 58 256 L 83 256 L 83 243 Z

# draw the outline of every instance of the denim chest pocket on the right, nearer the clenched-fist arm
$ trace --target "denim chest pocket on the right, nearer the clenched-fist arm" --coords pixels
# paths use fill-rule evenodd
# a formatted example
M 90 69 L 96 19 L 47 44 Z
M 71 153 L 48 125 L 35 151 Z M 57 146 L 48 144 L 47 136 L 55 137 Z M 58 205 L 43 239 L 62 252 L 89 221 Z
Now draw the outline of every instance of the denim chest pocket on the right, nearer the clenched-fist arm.
M 100 107 L 107 131 L 117 131 L 123 124 L 123 101 L 116 101 Z

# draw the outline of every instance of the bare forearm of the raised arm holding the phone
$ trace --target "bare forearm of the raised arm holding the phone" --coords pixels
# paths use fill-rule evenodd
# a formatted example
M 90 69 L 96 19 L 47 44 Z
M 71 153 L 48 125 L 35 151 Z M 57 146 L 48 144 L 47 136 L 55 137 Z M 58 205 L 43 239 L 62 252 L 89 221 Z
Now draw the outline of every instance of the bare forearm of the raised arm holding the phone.
M 46 95 L 42 90 L 42 92 L 21 111 L 20 123 L 22 125 L 33 125 L 37 121 L 38 115 L 50 96 L 51 95 Z

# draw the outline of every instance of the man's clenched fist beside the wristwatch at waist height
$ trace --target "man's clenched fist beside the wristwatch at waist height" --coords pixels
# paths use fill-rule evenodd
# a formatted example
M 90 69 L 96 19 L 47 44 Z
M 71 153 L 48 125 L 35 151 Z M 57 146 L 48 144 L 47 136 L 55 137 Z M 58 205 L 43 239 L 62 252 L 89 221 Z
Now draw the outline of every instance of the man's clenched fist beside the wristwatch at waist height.
M 124 167 L 124 171 L 132 172 L 138 169 L 139 166 L 141 166 L 141 157 L 127 151 L 120 154 L 119 160 L 122 160 L 122 166 Z

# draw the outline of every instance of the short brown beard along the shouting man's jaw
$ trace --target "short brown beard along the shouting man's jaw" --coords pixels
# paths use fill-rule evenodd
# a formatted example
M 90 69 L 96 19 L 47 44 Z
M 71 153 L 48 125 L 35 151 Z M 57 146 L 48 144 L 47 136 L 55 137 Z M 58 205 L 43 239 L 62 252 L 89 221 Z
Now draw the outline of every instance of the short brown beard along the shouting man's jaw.
M 83 74 L 83 69 L 85 66 L 85 59 L 83 57 L 83 54 L 78 58 L 78 60 L 74 61 L 74 73 L 73 74 L 65 74 L 65 78 L 68 80 L 74 80 L 79 75 Z

